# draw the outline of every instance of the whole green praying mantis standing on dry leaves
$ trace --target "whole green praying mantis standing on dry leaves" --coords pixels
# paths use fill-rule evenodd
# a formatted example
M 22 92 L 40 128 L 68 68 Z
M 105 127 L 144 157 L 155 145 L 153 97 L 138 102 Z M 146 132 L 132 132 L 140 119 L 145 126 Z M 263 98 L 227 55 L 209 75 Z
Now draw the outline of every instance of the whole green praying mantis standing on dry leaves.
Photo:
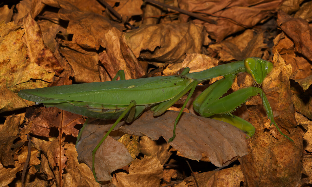
M 195 87 L 199 83 L 218 76 L 224 78 L 209 86 L 193 102 L 194 110 L 198 114 L 203 117 L 212 116 L 217 120 L 228 122 L 245 131 L 251 137 L 255 133 L 255 128 L 249 122 L 232 115 L 231 112 L 251 96 L 259 94 L 267 116 L 271 120 L 271 125 L 274 124 L 281 135 L 291 140 L 276 125 L 266 95 L 259 88 L 272 68 L 272 62 L 257 57 L 249 57 L 245 60 L 215 66 L 200 72 L 189 73 L 189 68 L 185 68 L 181 75 L 177 76 L 124 80 L 123 71 L 119 71 L 113 81 L 27 89 L 21 90 L 18 96 L 29 101 L 43 103 L 47 107 L 55 106 L 83 116 L 103 120 L 117 119 L 92 151 L 92 172 L 97 181 L 95 153 L 121 119 L 125 118 L 125 121 L 129 123 L 148 108 L 154 111 L 154 116 L 159 116 L 190 91 L 174 122 L 173 136 L 168 140 L 168 142 L 171 142 L 175 138 L 176 125 L 182 111 L 192 96 Z M 254 86 L 242 88 L 222 97 L 232 86 L 237 74 L 245 71 L 252 77 Z M 115 81 L 118 76 L 121 80 Z M 220 114 L 228 115 L 220 116 Z M 81 132 L 82 130 L 80 130 Z M 78 139 L 79 137 L 80 135 L 78 135 Z

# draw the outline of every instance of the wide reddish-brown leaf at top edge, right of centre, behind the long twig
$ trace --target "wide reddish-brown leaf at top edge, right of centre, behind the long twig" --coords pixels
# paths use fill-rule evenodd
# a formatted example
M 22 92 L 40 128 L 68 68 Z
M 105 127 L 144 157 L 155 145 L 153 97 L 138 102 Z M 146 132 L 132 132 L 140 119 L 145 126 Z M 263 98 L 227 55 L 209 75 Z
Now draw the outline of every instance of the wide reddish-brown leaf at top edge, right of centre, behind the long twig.
M 203 24 L 206 31 L 217 42 L 222 41 L 226 36 L 235 32 L 244 30 L 263 21 L 270 15 L 281 3 L 277 1 L 187 1 L 179 0 L 179 7 L 190 12 L 201 12 L 208 16 L 207 19 L 217 21 L 217 24 L 211 24 L 195 19 L 193 22 Z M 210 16 L 211 15 L 211 16 Z M 188 20 L 188 16 L 183 15 L 183 21 Z

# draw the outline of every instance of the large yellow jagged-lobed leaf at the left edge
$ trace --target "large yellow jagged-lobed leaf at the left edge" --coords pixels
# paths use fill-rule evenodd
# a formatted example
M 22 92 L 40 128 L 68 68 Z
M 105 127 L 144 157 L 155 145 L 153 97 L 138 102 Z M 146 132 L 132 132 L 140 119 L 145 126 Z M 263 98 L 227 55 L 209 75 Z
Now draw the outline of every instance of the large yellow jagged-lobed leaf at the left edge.
M 15 93 L 21 89 L 45 87 L 54 76 L 34 62 L 26 62 L 23 34 L 21 27 L 13 22 L 0 22 L 0 96 L 6 98 L 0 102 L 0 112 L 33 105 L 34 102 L 22 100 Z

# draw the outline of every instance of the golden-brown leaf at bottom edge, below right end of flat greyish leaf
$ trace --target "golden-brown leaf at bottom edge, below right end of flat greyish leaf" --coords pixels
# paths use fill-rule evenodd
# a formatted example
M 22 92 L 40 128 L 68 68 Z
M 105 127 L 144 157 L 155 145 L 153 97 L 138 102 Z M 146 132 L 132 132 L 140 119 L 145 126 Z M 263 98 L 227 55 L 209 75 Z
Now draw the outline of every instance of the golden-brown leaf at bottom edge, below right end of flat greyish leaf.
M 241 186 L 244 182 L 244 175 L 241 172 L 240 165 L 234 165 L 230 168 L 220 171 L 208 171 L 195 175 L 198 186 Z M 183 180 L 176 187 L 196 186 L 193 176 Z

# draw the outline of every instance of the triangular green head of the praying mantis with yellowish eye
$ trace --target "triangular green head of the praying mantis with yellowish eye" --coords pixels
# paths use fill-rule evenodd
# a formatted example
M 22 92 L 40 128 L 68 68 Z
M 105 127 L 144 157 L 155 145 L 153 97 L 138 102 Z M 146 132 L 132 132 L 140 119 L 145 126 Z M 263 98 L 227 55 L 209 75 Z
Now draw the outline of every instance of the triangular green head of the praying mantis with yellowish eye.
M 260 86 L 263 79 L 273 69 L 273 64 L 270 61 L 263 60 L 257 57 L 249 57 L 245 59 L 245 69 L 254 80 L 254 83 Z

